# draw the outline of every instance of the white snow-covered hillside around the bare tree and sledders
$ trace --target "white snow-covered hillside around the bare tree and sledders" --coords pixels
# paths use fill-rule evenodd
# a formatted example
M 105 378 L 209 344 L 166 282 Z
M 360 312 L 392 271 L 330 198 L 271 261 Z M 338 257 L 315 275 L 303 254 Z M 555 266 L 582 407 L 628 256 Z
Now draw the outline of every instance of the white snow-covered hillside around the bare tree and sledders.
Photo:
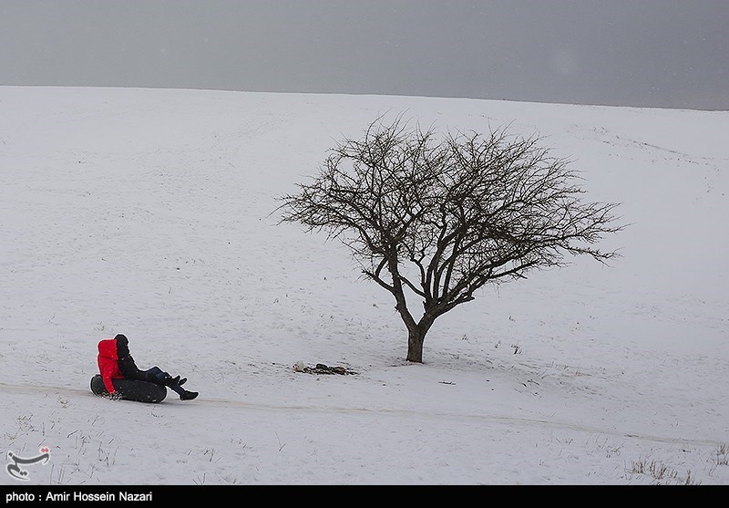
M 408 364 L 391 295 L 277 196 L 383 114 L 510 125 L 631 225 Z M 729 484 L 729 112 L 0 87 L 0 484 Z M 200 397 L 88 389 L 97 343 Z M 303 361 L 356 374 L 296 372 Z

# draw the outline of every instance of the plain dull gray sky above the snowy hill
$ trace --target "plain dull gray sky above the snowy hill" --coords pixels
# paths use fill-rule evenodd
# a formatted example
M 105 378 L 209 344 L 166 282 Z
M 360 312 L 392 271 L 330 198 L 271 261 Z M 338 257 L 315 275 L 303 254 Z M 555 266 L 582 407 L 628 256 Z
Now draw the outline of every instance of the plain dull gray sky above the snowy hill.
M 0 0 L 0 85 L 729 109 L 729 0 Z

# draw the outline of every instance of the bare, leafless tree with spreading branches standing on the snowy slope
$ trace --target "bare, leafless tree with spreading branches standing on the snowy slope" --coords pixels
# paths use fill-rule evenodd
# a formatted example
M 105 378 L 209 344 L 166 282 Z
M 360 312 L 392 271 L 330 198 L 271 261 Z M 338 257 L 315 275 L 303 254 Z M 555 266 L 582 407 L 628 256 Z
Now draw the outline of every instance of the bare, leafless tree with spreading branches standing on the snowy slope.
M 361 140 L 337 143 L 320 174 L 284 195 L 281 222 L 302 223 L 346 244 L 363 274 L 395 297 L 407 360 L 423 361 L 438 316 L 487 283 L 564 264 L 565 254 L 605 263 L 594 245 L 616 203 L 583 203 L 568 161 L 535 138 L 411 129 L 373 122 Z M 415 316 L 408 299 L 422 302 Z

